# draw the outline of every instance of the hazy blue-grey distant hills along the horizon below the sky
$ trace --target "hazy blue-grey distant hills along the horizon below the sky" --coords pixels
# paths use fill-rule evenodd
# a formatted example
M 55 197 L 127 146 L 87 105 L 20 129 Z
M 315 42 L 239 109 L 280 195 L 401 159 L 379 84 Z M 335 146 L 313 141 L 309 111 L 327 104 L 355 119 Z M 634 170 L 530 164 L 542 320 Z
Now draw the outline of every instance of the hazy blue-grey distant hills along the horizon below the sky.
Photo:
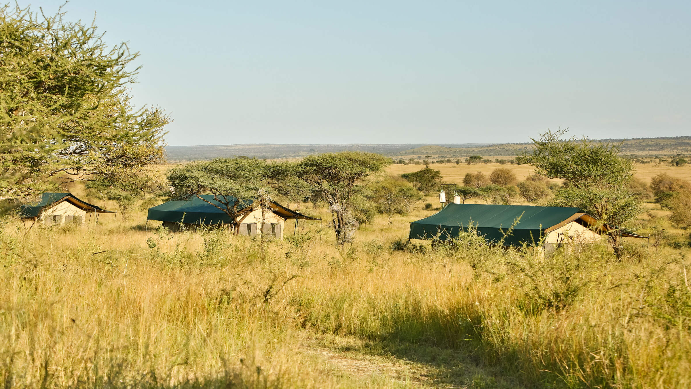
M 691 136 L 670 138 L 600 139 L 597 142 L 622 143 L 623 154 L 669 155 L 691 154 Z M 168 146 L 167 159 L 171 162 L 197 161 L 218 157 L 249 156 L 259 159 L 299 158 L 310 154 L 341 151 L 375 152 L 387 156 L 444 156 L 459 158 L 479 154 L 482 156 L 513 156 L 527 152 L 532 143 L 437 143 L 437 144 L 367 144 L 350 143 L 336 145 L 198 145 Z

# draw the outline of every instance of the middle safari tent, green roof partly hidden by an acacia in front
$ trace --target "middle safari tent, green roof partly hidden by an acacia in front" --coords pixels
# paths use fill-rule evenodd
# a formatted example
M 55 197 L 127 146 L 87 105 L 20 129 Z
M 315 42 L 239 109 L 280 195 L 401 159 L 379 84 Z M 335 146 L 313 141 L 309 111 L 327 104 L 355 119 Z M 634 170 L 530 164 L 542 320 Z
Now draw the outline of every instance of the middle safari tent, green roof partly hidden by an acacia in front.
M 187 200 L 167 201 L 160 206 L 149 208 L 146 219 L 162 221 L 163 226 L 173 231 L 180 230 L 180 228 L 196 228 L 202 225 L 229 227 L 230 217 L 223 210 L 216 208 L 216 206 L 225 208 L 223 203 L 216 201 L 213 194 L 201 194 L 200 197 L 202 199 L 192 196 Z M 224 201 L 235 201 L 235 198 L 226 198 Z M 263 233 L 277 239 L 283 239 L 286 219 L 319 220 L 281 206 L 274 201 L 271 203 L 271 208 L 271 211 L 265 212 L 264 223 L 262 223 L 261 209 L 254 204 L 254 201 L 249 200 L 241 203 L 238 206 L 240 209 L 238 211 L 240 235 L 256 235 L 258 228 L 261 228 Z

